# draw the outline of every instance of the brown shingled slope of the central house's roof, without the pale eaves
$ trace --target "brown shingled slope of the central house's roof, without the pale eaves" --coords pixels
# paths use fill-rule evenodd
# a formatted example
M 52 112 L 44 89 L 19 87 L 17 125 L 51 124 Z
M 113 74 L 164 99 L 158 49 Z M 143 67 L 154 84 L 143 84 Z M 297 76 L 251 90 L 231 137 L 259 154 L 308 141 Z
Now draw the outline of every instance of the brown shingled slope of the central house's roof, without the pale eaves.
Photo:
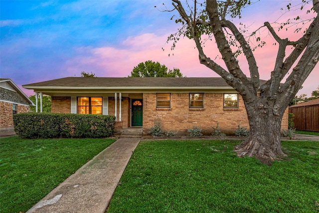
M 264 83 L 266 81 L 261 81 Z M 221 77 L 66 77 L 22 85 L 34 87 L 230 87 Z

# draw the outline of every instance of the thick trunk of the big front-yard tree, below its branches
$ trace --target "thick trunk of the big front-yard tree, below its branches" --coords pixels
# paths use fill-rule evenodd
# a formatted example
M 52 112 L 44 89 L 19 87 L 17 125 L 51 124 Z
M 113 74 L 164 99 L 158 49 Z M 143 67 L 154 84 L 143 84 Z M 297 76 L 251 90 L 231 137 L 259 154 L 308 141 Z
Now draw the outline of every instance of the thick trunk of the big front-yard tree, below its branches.
M 263 106 L 263 105 L 261 105 Z M 276 115 L 272 110 L 258 107 L 247 110 L 249 118 L 249 137 L 234 148 L 239 157 L 256 157 L 269 162 L 286 156 L 281 149 L 281 121 L 284 113 Z

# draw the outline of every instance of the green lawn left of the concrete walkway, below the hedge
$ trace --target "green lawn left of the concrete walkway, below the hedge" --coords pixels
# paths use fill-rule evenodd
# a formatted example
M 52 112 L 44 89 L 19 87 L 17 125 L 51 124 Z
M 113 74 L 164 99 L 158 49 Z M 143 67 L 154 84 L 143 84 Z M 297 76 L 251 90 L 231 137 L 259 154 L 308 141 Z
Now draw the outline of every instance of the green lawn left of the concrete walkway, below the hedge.
M 0 212 L 26 212 L 114 139 L 0 139 Z

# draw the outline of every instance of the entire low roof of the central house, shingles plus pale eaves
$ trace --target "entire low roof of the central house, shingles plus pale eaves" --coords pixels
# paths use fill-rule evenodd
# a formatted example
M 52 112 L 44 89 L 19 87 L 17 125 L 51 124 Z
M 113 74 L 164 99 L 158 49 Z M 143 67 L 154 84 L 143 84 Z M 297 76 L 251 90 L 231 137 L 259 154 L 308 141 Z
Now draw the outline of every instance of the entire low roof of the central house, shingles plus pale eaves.
M 261 80 L 262 84 L 265 82 Z M 66 77 L 22 87 L 51 96 L 107 92 L 236 92 L 221 77 Z

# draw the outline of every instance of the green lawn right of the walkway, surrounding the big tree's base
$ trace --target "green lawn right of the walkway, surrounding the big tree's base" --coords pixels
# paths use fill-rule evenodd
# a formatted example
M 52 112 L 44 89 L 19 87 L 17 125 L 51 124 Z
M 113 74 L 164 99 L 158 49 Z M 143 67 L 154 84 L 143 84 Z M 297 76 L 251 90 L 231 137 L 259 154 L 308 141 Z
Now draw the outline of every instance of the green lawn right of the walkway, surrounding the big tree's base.
M 272 166 L 238 158 L 239 141 L 141 141 L 107 213 L 319 211 L 319 143 L 284 141 Z

